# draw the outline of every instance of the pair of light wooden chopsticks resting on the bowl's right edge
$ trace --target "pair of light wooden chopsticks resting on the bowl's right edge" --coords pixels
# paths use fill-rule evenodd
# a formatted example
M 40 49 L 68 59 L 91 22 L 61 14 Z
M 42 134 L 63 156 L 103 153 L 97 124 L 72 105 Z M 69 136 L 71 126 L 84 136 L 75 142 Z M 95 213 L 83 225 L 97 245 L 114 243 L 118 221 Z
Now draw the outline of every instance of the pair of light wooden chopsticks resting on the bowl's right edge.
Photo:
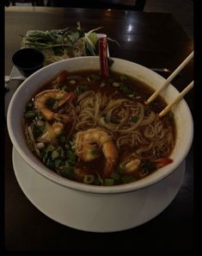
M 162 84 L 162 86 L 160 88 L 158 88 L 150 97 L 149 99 L 146 101 L 147 104 L 151 103 L 158 95 L 159 93 L 168 86 L 168 84 L 179 74 L 179 72 L 181 72 L 181 70 L 187 66 L 187 64 L 189 63 L 189 61 L 193 59 L 193 52 L 190 53 L 187 57 L 187 59 L 185 59 L 180 66 L 178 66 L 174 72 L 166 79 L 166 81 Z M 168 111 L 174 106 L 175 103 L 178 103 L 182 97 L 184 97 L 188 91 L 190 91 L 193 88 L 193 82 L 191 82 L 190 84 L 187 85 L 187 87 L 181 91 L 181 93 L 174 98 L 174 101 L 172 103 L 169 103 L 168 106 L 165 109 L 162 109 L 162 112 L 160 112 L 158 114 L 158 116 L 162 117 L 165 116 Z

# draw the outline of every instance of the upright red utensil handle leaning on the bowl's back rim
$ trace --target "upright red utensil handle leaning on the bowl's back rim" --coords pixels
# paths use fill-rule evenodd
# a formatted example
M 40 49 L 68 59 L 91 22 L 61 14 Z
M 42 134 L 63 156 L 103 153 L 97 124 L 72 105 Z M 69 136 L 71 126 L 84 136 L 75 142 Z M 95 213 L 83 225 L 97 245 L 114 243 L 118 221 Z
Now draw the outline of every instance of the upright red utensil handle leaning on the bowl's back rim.
M 100 55 L 100 69 L 101 76 L 107 78 L 108 72 L 108 59 L 107 59 L 107 37 L 101 37 L 99 39 L 99 55 Z

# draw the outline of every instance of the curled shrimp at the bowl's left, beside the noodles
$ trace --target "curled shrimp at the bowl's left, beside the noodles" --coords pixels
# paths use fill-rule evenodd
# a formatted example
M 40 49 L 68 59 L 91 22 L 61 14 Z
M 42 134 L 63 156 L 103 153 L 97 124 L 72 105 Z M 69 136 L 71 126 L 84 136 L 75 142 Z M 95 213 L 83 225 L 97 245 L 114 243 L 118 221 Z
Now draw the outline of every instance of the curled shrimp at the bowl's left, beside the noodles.
M 70 117 L 64 114 L 54 113 L 51 109 L 48 109 L 46 102 L 50 99 L 54 99 L 58 102 L 58 107 L 66 103 L 70 98 L 73 97 L 72 92 L 66 92 L 58 89 L 41 91 L 34 98 L 34 106 L 40 113 L 46 118 L 47 121 L 54 119 L 60 120 L 61 122 L 70 122 Z

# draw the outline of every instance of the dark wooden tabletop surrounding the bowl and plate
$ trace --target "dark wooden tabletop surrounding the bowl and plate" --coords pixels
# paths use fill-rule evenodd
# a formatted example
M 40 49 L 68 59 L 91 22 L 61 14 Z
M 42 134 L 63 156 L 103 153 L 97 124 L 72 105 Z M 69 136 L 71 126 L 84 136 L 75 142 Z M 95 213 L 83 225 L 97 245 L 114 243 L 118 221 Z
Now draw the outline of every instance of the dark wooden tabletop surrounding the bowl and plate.
M 147 67 L 174 69 L 193 51 L 193 41 L 170 14 L 129 10 L 9 7 L 5 9 L 5 75 L 12 55 L 21 47 L 20 34 L 29 29 L 103 27 L 100 33 L 119 41 L 109 43 L 110 56 Z M 181 91 L 193 80 L 193 61 L 174 78 Z M 193 111 L 193 91 L 185 97 Z M 16 181 L 12 143 L 5 125 L 5 247 L 8 250 L 69 250 L 71 252 L 164 252 L 193 250 L 193 147 L 187 155 L 183 184 L 160 215 L 137 228 L 99 234 L 68 228 L 36 209 Z

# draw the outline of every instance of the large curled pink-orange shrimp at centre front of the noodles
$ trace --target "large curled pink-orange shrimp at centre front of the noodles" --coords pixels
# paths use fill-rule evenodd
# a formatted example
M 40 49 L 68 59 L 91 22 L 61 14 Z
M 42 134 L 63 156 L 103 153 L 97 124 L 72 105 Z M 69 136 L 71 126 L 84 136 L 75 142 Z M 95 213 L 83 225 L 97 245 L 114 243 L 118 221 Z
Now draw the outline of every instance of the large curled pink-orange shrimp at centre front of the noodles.
M 89 128 L 86 131 L 78 132 L 75 142 L 77 156 L 86 162 L 99 157 L 95 145 L 101 148 L 106 159 L 102 178 L 108 178 L 118 159 L 118 150 L 112 137 L 99 128 Z

